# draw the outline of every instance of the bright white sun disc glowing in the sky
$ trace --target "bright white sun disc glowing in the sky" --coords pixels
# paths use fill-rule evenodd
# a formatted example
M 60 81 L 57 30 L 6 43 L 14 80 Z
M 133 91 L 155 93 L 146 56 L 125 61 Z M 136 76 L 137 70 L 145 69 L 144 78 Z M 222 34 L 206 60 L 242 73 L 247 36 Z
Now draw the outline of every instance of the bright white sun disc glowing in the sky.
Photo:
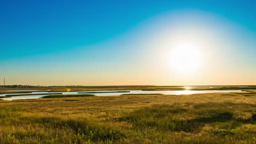
M 202 53 L 191 44 L 179 44 L 171 51 L 172 69 L 178 73 L 193 73 L 202 63 Z

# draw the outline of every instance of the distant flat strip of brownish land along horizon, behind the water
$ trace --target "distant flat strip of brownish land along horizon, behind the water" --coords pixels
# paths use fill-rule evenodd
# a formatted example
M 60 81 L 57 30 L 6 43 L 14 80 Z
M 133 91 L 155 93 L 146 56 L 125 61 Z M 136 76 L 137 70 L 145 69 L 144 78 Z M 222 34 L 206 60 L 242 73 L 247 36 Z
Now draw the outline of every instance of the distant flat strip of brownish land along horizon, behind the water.
M 30 90 L 39 90 L 37 92 L 80 92 L 80 91 L 107 91 L 107 90 L 143 90 L 143 91 L 182 91 L 186 90 L 184 86 L 154 86 L 154 85 L 141 85 L 141 86 L 57 86 L 57 87 L 22 87 L 10 88 L 0 87 L 0 94 L 5 93 L 31 93 Z M 27 91 L 26 91 L 27 90 Z M 202 91 L 202 90 L 256 90 L 255 85 L 247 86 L 191 86 L 189 90 Z M 157 93 L 157 92 L 156 92 Z

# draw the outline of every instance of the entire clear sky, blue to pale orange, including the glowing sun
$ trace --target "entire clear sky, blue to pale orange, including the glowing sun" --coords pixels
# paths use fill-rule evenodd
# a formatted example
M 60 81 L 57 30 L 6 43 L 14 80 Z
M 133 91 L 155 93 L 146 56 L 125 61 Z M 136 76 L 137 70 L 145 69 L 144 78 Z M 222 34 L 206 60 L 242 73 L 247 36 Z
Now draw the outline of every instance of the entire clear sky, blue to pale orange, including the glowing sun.
M 256 1 L 1 1 L 0 78 L 256 85 Z

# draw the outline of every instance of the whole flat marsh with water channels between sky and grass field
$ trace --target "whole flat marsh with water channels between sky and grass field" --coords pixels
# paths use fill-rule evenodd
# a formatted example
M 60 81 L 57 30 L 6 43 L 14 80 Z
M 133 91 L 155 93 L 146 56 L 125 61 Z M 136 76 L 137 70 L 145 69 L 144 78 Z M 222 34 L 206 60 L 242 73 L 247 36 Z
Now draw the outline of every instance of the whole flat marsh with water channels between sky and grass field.
M 14 99 L 38 99 L 45 95 L 56 94 L 95 94 L 97 96 L 111 96 L 122 94 L 196 94 L 217 92 L 241 92 L 254 91 L 256 86 L 51 86 L 30 88 L 0 88 L 0 98 L 4 100 Z M 155 92 L 157 91 L 157 92 Z M 58 93 L 59 94 L 59 93 Z M 6 96 L 6 97 L 5 97 Z M 19 96 L 19 97 L 14 97 Z M 23 97 L 24 96 L 24 97 Z

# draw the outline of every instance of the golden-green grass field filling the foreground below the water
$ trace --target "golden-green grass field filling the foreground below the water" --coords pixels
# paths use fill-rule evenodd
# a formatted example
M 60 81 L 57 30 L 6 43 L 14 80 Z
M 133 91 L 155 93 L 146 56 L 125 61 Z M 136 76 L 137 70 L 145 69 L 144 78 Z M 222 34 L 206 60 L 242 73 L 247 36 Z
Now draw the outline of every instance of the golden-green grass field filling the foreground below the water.
M 256 143 L 256 93 L 2 100 L 0 121 L 0 143 Z

